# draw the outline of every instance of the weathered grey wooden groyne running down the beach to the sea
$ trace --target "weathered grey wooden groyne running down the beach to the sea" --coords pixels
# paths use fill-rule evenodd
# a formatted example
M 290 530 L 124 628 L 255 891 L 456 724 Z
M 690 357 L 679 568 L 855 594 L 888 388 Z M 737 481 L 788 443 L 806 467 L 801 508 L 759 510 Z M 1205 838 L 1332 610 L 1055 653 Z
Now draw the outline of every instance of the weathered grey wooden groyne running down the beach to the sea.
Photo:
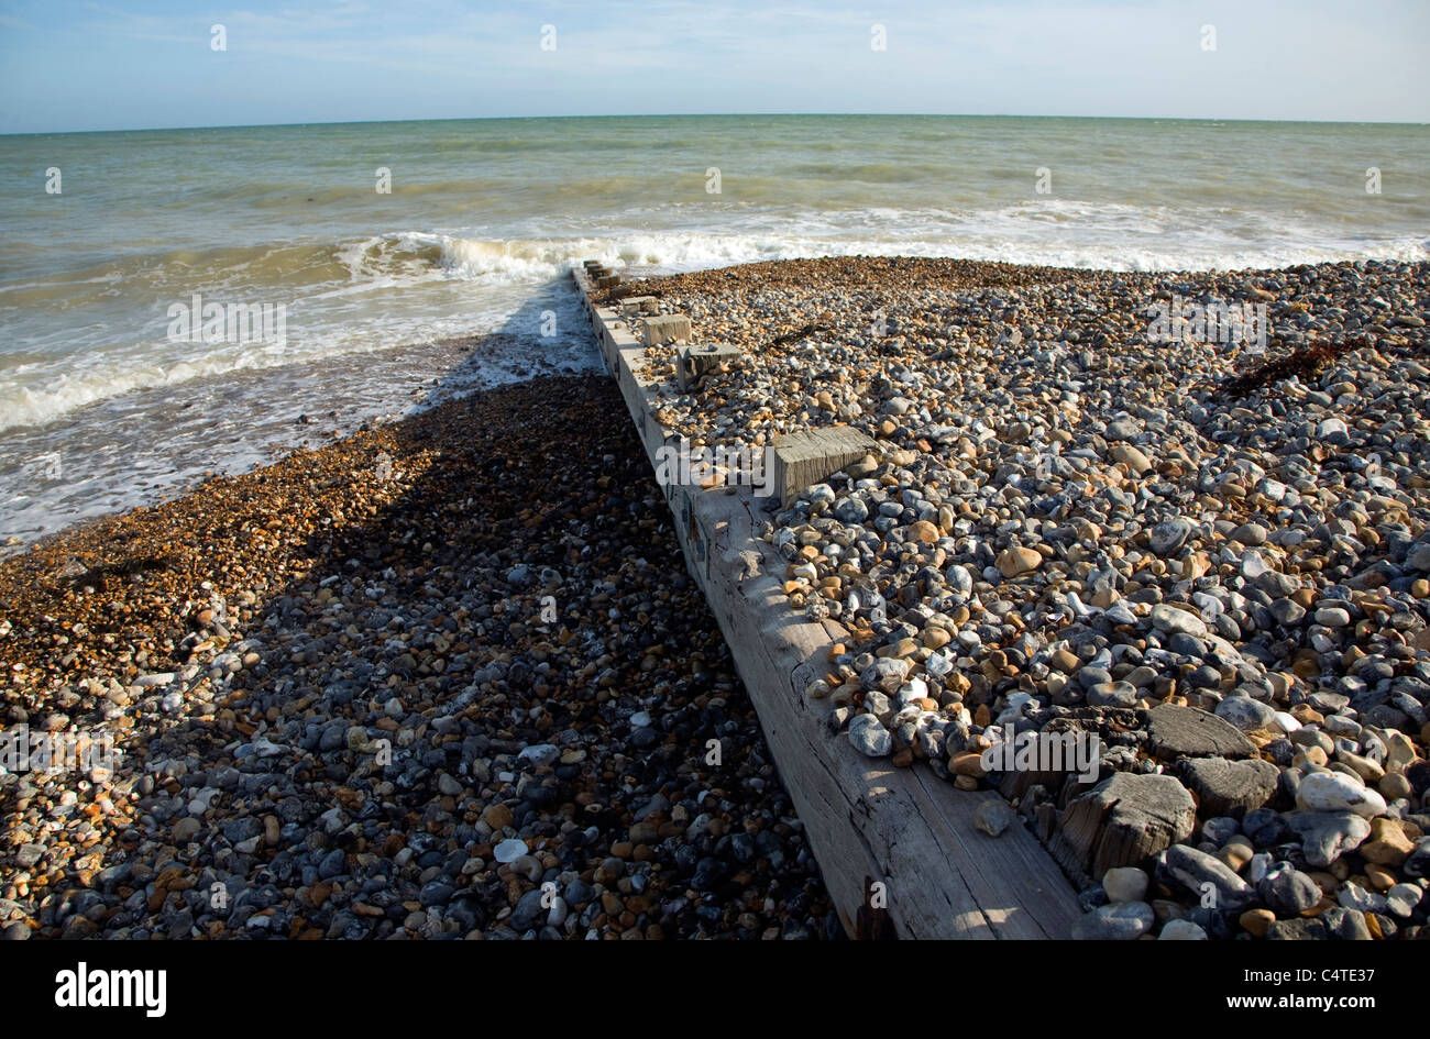
M 662 449 L 678 446 L 655 419 L 662 389 L 671 393 L 674 387 L 642 374 L 645 346 L 632 334 L 621 303 L 602 306 L 591 294 L 615 289 L 633 310 L 641 309 L 638 300 L 621 293 L 625 286 L 611 272 L 593 270 L 606 282 L 592 284 L 583 269 L 572 274 L 606 369 L 656 466 Z M 688 320 L 668 324 L 665 332 L 684 330 L 699 342 Z M 699 350 L 691 354 L 678 362 L 682 380 L 699 373 Z M 844 464 L 835 454 L 828 469 L 811 476 L 824 449 L 829 444 L 788 444 L 776 463 L 776 489 L 804 487 Z M 1001 795 L 955 790 L 924 765 L 895 767 L 831 735 L 828 702 L 805 690 L 828 670 L 829 646 L 848 640 L 849 633 L 834 620 L 814 622 L 789 607 L 776 579 L 785 560 L 756 536 L 764 499 L 748 486 L 704 490 L 669 482 L 662 489 L 686 567 L 705 592 L 759 712 L 845 929 L 851 935 L 867 930 L 858 922 L 861 908 L 872 902 L 875 908 L 887 903 L 901 938 L 1068 938 L 1081 915 L 1077 899 L 1034 835 L 1014 825 L 994 837 L 974 825 L 980 806 Z

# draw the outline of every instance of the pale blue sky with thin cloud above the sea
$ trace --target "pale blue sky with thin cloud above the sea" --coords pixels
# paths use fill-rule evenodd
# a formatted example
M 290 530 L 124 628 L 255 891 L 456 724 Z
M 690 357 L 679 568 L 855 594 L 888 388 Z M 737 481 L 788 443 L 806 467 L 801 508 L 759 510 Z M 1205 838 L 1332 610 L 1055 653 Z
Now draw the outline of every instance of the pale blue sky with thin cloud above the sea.
M 1424 123 L 1427 51 L 1430 0 L 0 0 L 0 133 L 795 111 Z

